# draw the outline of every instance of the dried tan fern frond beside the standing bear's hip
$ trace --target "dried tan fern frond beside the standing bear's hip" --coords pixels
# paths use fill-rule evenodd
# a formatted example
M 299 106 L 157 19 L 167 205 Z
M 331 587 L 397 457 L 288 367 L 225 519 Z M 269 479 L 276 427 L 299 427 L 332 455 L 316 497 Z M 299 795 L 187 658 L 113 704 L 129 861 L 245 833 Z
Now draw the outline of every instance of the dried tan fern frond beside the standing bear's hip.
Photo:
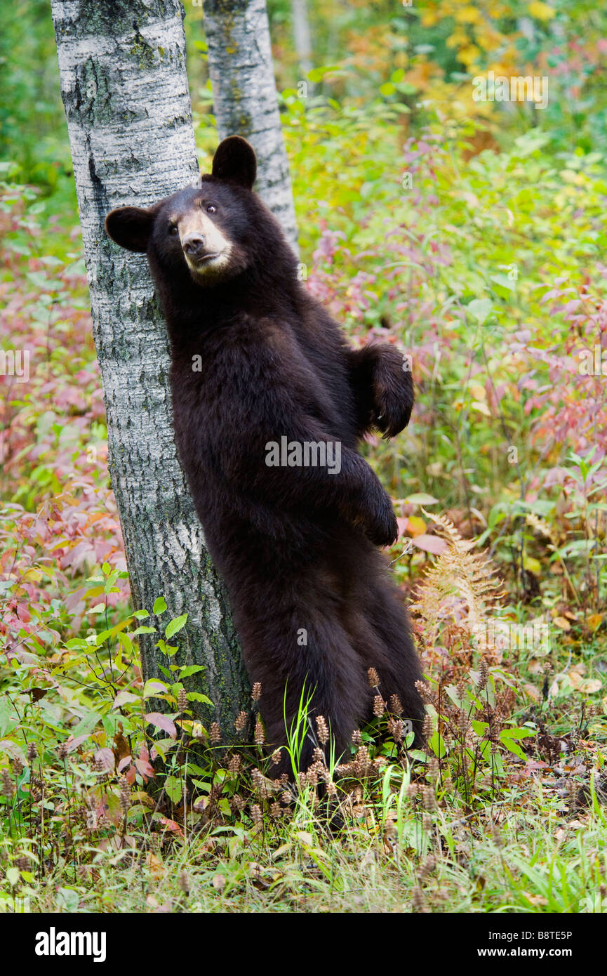
M 479 633 L 487 620 L 489 607 L 503 595 L 502 582 L 496 577 L 484 552 L 471 552 L 474 541 L 462 538 L 445 515 L 422 509 L 441 530 L 446 549 L 429 567 L 411 606 L 423 624 L 426 642 L 433 646 L 439 623 L 455 620 L 472 633 Z

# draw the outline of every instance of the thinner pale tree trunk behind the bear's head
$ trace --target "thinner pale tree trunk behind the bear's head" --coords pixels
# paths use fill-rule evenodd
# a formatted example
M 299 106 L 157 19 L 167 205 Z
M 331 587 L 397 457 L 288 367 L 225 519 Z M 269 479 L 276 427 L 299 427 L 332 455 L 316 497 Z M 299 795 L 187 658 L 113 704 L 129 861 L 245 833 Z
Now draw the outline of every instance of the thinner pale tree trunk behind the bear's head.
M 297 252 L 265 0 L 204 0 L 203 10 L 219 135 L 251 142 L 258 157 L 256 189 Z

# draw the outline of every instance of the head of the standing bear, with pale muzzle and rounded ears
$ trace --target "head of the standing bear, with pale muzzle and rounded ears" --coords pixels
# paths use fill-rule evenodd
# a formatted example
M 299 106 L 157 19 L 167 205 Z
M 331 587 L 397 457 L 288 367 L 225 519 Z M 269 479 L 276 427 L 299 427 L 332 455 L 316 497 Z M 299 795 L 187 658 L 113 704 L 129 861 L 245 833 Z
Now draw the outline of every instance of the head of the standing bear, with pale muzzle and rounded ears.
M 112 210 L 105 230 L 121 247 L 146 253 L 153 271 L 174 281 L 189 272 L 195 284 L 214 287 L 284 245 L 279 225 L 252 192 L 256 172 L 253 147 L 229 136 L 199 186 L 151 207 Z

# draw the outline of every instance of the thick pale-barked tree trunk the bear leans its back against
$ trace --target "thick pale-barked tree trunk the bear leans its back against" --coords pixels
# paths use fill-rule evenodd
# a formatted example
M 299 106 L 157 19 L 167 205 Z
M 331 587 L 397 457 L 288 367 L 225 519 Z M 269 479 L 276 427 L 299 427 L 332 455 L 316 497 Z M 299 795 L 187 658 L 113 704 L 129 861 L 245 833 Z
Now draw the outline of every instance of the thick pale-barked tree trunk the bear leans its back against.
M 113 207 L 146 206 L 199 178 L 182 5 L 53 0 L 52 6 L 109 469 L 134 600 L 151 611 L 162 594 L 171 616 L 189 614 L 179 635 L 181 660 L 186 648 L 187 663 L 205 671 L 187 678 L 187 689 L 211 698 L 213 717 L 228 735 L 248 686 L 223 587 L 177 457 L 166 327 L 145 257 L 119 249 L 103 230 Z M 156 639 L 140 637 L 145 677 L 159 675 Z M 192 707 L 203 720 L 211 718 L 212 710 Z

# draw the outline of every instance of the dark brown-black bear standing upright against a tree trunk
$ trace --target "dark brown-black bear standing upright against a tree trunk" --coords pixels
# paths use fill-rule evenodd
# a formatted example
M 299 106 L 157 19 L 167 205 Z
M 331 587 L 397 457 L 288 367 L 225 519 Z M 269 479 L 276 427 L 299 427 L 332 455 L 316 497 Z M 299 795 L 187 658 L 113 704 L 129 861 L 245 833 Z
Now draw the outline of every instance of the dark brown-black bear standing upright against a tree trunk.
M 370 668 L 420 741 L 420 665 L 377 548 L 394 542 L 396 518 L 357 452 L 371 428 L 389 437 L 408 424 L 411 374 L 393 346 L 349 346 L 308 294 L 252 191 L 256 169 L 251 145 L 231 136 L 199 186 L 112 210 L 105 227 L 147 254 L 169 329 L 182 467 L 262 685 L 268 743 L 286 743 L 311 695 L 308 714 L 324 716 L 339 757 L 372 716 Z

